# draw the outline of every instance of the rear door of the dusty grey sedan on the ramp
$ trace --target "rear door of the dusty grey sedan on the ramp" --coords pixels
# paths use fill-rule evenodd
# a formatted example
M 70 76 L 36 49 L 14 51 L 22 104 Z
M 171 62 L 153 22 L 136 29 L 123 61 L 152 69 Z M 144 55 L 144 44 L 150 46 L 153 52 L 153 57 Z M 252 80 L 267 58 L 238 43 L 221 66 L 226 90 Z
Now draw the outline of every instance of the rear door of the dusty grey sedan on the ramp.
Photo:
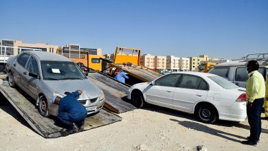
M 30 58 L 30 55 L 29 54 L 23 53 L 13 63 L 13 70 L 12 70 L 12 72 L 13 72 L 13 75 L 14 75 L 14 81 L 21 88 L 23 88 L 23 84 L 21 84 L 21 74 L 23 73 L 23 71 L 25 71 L 25 65 L 27 63 L 27 60 L 29 60 L 29 58 Z

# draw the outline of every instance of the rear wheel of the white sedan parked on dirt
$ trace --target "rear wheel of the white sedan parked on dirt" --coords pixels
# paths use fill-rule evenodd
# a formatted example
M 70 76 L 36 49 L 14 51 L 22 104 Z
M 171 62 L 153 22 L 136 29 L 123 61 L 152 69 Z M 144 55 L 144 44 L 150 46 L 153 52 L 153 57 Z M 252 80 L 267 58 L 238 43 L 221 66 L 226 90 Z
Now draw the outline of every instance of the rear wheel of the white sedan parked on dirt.
M 208 104 L 199 106 L 197 109 L 197 117 L 206 124 L 212 124 L 218 119 L 216 109 Z

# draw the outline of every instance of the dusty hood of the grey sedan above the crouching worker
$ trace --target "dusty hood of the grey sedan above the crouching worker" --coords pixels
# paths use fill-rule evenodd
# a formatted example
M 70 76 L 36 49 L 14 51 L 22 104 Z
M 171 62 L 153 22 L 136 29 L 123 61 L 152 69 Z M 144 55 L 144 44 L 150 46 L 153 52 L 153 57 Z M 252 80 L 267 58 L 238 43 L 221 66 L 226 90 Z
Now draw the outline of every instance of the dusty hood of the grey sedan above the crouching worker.
M 88 100 L 100 97 L 100 88 L 88 79 L 85 80 L 44 80 L 44 83 L 50 87 L 55 95 L 65 96 L 65 92 L 72 93 L 82 90 L 78 100 Z

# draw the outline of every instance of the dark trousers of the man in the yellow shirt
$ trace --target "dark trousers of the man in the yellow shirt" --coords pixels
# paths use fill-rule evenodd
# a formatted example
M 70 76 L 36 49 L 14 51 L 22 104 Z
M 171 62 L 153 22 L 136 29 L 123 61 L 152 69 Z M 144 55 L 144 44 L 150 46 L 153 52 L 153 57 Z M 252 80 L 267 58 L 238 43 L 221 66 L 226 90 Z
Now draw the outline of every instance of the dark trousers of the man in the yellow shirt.
M 249 120 L 250 136 L 249 141 L 256 143 L 260 139 L 261 132 L 261 120 L 260 114 L 262 111 L 264 98 L 256 99 L 252 103 L 252 107 L 247 105 L 247 119 Z

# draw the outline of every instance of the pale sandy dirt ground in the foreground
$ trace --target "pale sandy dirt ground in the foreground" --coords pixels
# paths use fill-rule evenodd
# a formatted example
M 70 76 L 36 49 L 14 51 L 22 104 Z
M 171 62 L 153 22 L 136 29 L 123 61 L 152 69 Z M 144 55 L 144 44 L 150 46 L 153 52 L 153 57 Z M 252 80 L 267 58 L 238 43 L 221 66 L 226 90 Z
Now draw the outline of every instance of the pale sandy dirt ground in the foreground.
M 203 124 L 193 116 L 158 106 L 119 114 L 122 121 L 44 139 L 7 100 L 0 101 L 0 150 L 268 150 L 268 121 L 256 147 L 241 141 L 249 136 L 247 121 Z

